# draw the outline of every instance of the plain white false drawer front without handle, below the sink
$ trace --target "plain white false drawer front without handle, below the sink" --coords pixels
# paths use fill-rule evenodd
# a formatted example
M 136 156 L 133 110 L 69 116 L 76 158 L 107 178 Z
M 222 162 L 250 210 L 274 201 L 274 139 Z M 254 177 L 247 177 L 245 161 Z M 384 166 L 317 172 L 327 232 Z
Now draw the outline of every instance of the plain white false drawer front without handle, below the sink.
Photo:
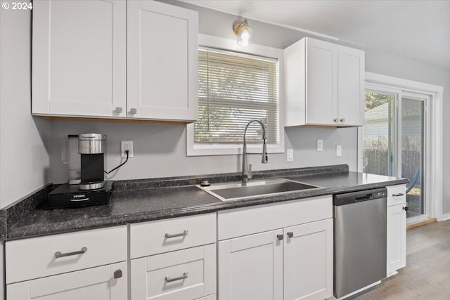
M 217 213 L 218 240 L 319 221 L 333 217 L 331 195 Z

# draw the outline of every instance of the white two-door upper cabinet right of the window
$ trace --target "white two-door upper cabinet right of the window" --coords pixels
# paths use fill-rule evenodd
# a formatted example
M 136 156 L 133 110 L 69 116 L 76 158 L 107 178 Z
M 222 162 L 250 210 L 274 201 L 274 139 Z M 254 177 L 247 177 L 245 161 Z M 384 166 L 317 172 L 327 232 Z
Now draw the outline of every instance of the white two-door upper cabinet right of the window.
M 364 51 L 304 38 L 284 61 L 286 126 L 364 124 Z

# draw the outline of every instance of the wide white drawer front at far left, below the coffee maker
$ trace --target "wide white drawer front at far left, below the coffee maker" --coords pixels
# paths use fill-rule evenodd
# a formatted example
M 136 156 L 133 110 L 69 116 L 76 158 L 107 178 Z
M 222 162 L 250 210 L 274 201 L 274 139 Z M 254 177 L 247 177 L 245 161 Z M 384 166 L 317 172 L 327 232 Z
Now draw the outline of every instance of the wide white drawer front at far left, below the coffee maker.
M 127 260 L 127 226 L 5 243 L 6 283 Z

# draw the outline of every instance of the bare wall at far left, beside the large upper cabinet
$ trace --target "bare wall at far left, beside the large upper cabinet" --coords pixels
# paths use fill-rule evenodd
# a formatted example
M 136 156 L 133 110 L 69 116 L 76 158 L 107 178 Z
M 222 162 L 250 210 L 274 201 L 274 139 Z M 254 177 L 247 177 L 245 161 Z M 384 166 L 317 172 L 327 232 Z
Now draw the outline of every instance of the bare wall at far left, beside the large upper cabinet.
M 0 9 L 0 207 L 48 181 L 49 122 L 31 112 L 31 12 Z

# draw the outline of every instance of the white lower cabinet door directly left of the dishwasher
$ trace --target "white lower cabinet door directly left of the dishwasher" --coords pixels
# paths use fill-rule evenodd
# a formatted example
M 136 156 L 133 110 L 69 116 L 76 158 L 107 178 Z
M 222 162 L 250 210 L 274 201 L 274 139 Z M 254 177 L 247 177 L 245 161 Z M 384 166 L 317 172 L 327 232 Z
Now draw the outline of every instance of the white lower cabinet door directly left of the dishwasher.
M 284 299 L 332 296 L 333 219 L 285 228 L 284 233 Z

